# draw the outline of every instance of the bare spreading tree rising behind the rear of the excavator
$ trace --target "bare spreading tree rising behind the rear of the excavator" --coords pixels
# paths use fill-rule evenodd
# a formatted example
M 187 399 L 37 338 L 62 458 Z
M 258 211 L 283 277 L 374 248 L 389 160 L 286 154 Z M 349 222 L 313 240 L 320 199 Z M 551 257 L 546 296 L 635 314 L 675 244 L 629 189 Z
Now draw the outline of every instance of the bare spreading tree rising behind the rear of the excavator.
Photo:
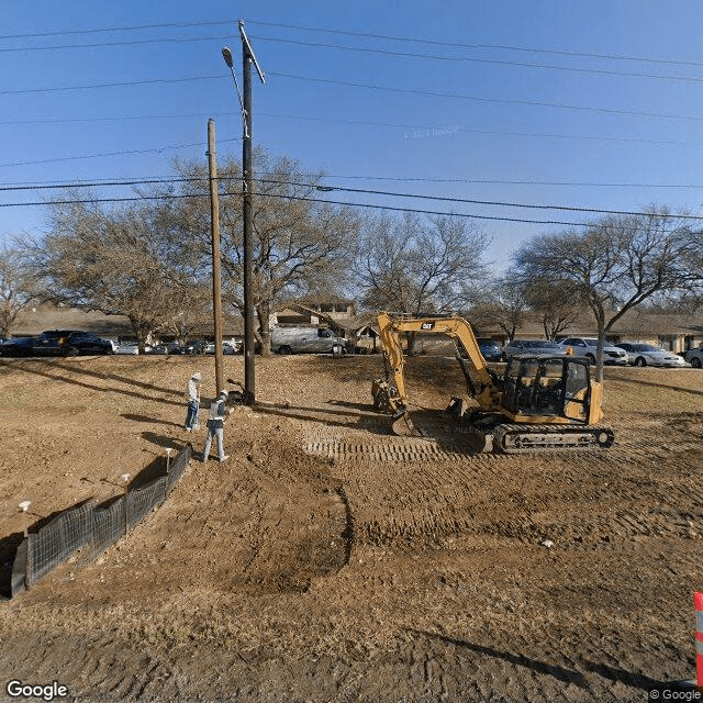
M 605 334 L 632 308 L 660 291 L 701 284 L 701 242 L 684 217 L 665 209 L 609 217 L 584 232 L 542 235 L 514 255 L 517 280 L 554 284 L 585 304 L 598 327 L 598 378 L 603 379 Z

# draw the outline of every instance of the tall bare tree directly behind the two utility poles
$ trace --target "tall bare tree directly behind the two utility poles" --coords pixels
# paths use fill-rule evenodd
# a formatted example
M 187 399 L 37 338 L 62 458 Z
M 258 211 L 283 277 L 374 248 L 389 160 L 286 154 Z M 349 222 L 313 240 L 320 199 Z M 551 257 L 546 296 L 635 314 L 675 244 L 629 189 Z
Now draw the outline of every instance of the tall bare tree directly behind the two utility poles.
M 322 175 L 306 174 L 289 158 L 255 154 L 253 298 L 258 319 L 255 335 L 264 353 L 270 350 L 269 317 L 291 297 L 321 290 L 343 292 L 358 243 L 359 217 L 350 208 L 325 201 Z M 210 205 L 205 167 L 177 163 L 188 180 L 175 201 L 172 236 L 196 252 L 201 272 L 209 275 L 211 256 Z M 223 297 L 244 311 L 242 180 L 236 161 L 219 166 L 221 261 Z

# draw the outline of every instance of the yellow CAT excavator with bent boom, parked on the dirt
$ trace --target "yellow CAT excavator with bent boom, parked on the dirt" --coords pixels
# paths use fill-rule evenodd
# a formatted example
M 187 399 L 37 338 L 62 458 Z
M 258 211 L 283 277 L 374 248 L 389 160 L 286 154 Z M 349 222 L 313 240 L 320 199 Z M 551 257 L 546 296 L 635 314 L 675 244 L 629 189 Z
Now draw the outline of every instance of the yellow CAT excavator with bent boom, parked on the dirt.
M 454 416 L 479 451 L 529 453 L 607 448 L 613 431 L 598 423 L 602 387 L 591 379 L 590 361 L 576 356 L 518 356 L 503 375 L 489 368 L 473 331 L 462 317 L 412 317 L 381 312 L 386 379 L 371 386 L 373 408 L 392 415 L 392 429 L 401 436 L 423 436 L 409 413 L 402 333 L 438 334 L 454 339 L 470 409 L 454 397 L 446 413 Z M 391 378 L 392 377 L 392 378 Z M 424 435 L 426 436 L 426 435 Z

